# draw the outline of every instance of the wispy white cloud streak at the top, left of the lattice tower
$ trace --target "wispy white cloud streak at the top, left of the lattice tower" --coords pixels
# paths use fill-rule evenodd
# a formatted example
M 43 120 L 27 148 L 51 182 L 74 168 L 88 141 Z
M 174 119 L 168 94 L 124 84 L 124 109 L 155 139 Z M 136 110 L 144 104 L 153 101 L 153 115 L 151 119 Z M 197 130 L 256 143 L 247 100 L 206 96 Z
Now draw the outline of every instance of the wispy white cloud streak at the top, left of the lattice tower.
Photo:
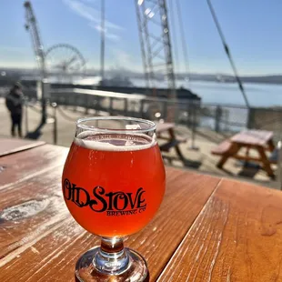
M 95 0 L 63 0 L 65 5 L 68 5 L 77 15 L 82 16 L 89 21 L 91 27 L 96 29 L 96 31 L 101 32 L 101 14 L 100 11 L 91 5 L 95 3 Z M 105 34 L 106 37 L 112 40 L 120 39 L 120 36 L 117 35 L 118 32 L 122 31 L 123 28 L 119 25 L 116 25 L 110 21 L 105 21 Z

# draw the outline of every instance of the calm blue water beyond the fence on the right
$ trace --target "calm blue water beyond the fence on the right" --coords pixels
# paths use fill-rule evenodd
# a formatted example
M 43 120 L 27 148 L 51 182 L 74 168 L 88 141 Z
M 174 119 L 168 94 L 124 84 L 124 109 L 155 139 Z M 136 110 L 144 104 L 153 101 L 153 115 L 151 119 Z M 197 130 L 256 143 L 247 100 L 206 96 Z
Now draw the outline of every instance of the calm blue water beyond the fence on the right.
M 144 86 L 141 80 L 133 80 L 133 82 L 136 86 Z M 166 87 L 166 84 L 156 82 L 156 86 Z M 225 112 L 223 119 L 225 122 L 220 123 L 220 130 L 240 131 L 246 128 L 248 111 L 236 83 L 186 82 L 178 80 L 176 81 L 176 86 L 188 88 L 200 96 L 202 98 L 202 106 L 207 106 L 212 111 L 212 116 L 215 116 L 215 107 L 208 106 L 208 104 L 230 105 L 229 107 L 223 107 Z M 282 106 L 282 85 L 244 84 L 244 87 L 250 106 Z M 232 106 L 242 106 L 242 108 Z M 199 126 L 215 129 L 215 123 L 215 117 L 202 116 Z

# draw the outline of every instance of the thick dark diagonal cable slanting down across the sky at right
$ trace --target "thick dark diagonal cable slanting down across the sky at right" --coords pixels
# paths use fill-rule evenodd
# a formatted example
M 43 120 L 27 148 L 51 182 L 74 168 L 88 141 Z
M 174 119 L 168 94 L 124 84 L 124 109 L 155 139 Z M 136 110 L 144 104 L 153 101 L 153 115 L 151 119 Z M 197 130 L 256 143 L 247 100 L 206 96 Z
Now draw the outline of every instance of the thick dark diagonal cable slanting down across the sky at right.
M 231 65 L 231 67 L 232 67 L 232 69 L 233 69 L 234 76 L 236 77 L 237 84 L 238 84 L 239 89 L 240 89 L 240 91 L 241 91 L 241 93 L 242 93 L 242 95 L 243 95 L 243 98 L 244 98 L 244 100 L 245 100 L 246 106 L 247 106 L 247 108 L 250 108 L 249 103 L 248 103 L 248 100 L 247 100 L 247 95 L 246 95 L 245 89 L 244 89 L 244 87 L 243 87 L 241 78 L 240 78 L 240 77 L 238 76 L 238 74 L 237 74 L 236 65 L 235 65 L 234 60 L 233 60 L 233 58 L 232 58 L 232 55 L 231 55 L 231 53 L 230 53 L 230 51 L 229 51 L 229 47 L 228 47 L 228 45 L 227 45 L 227 40 L 226 40 L 225 36 L 223 35 L 223 32 L 222 32 L 221 27 L 220 27 L 220 25 L 219 25 L 219 22 L 218 22 L 218 20 L 217 20 L 217 15 L 216 15 L 216 12 L 215 12 L 215 10 L 214 10 L 214 7 L 213 7 L 213 5 L 211 4 L 210 0 L 206 0 L 206 2 L 207 2 L 207 5 L 208 5 L 208 7 L 209 7 L 209 10 L 210 10 L 210 12 L 211 12 L 211 15 L 213 16 L 213 19 L 214 19 L 214 21 L 215 21 L 215 24 L 217 25 L 218 34 L 219 34 L 219 36 L 220 36 L 220 38 L 221 38 L 222 44 L 224 45 L 224 49 L 225 49 L 225 51 L 226 51 L 226 53 L 227 53 L 227 57 L 228 57 L 228 59 L 229 59 L 230 65 Z

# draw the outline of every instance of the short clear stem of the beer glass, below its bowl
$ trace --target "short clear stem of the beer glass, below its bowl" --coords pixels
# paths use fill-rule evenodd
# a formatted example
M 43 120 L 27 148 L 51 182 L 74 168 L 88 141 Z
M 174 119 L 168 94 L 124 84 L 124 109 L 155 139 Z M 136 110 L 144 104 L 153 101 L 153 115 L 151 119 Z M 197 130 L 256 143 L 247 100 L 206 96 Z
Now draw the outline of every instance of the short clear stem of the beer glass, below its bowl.
M 93 259 L 95 267 L 106 274 L 119 274 L 129 267 L 129 257 L 120 237 L 102 237 L 101 247 Z

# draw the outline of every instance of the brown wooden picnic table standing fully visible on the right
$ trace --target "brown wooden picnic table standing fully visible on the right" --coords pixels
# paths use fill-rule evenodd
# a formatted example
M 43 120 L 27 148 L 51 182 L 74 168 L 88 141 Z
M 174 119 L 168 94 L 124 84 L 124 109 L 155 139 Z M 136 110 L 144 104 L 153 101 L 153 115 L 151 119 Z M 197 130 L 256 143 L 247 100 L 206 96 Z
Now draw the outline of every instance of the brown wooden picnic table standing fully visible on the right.
M 245 154 L 239 155 L 239 151 L 245 148 Z M 257 151 L 258 156 L 249 156 L 249 150 Z M 238 160 L 257 162 L 267 172 L 267 175 L 274 177 L 271 164 L 276 163 L 267 157 L 267 151 L 273 152 L 275 149 L 273 143 L 273 132 L 267 130 L 244 130 L 230 139 L 223 141 L 219 146 L 212 150 L 212 154 L 221 156 L 217 167 L 222 168 L 229 157 Z

